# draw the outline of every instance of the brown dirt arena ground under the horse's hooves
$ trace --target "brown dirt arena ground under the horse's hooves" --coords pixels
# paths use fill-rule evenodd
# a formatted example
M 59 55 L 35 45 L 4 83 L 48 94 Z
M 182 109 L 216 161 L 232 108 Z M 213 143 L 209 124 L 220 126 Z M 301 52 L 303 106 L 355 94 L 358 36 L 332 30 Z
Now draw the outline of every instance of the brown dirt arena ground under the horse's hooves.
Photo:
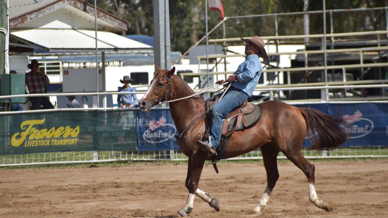
M 307 178 L 283 161 L 266 208 L 261 215 L 255 214 L 253 208 L 266 186 L 262 162 L 220 163 L 220 174 L 211 166 L 204 168 L 199 184 L 220 200 L 220 212 L 196 197 L 189 217 L 388 217 L 388 159 L 314 164 L 317 194 L 333 207 L 331 212 L 308 201 Z M 2 218 L 175 217 L 188 194 L 185 164 L 6 169 L 0 173 Z

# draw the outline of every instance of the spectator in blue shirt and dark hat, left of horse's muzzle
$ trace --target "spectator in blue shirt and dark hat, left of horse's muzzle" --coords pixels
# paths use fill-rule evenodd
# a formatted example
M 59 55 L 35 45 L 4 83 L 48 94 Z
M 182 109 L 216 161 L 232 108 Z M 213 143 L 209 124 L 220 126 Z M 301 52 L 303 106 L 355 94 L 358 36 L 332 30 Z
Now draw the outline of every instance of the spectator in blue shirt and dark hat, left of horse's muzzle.
M 121 83 L 124 83 L 122 87 L 119 87 L 119 92 L 135 92 L 136 88 L 132 88 L 129 84 L 132 80 L 129 76 L 124 76 L 123 80 L 120 80 Z M 123 94 L 117 96 L 117 104 L 119 107 L 136 107 L 137 106 L 137 97 L 136 94 Z

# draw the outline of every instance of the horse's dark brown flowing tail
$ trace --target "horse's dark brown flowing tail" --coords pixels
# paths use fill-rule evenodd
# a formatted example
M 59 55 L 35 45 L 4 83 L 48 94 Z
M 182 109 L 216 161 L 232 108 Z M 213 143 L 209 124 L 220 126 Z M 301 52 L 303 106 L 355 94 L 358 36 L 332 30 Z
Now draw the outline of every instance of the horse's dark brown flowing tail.
M 332 150 L 346 141 L 348 134 L 346 120 L 339 116 L 327 115 L 317 109 L 298 108 L 307 125 L 307 137 L 311 142 L 309 150 Z

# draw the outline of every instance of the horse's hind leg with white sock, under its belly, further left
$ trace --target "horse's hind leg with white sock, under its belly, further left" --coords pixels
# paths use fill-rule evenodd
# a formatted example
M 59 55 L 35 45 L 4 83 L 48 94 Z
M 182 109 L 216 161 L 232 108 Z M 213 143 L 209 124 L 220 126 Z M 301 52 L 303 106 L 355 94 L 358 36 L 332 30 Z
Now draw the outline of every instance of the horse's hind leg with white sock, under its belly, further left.
M 264 194 L 258 202 L 257 206 L 253 209 L 257 213 L 260 213 L 267 204 L 269 196 L 271 195 L 271 192 L 275 187 L 275 183 L 279 178 L 279 171 L 277 170 L 276 161 L 279 150 L 277 150 L 273 144 L 266 144 L 260 147 L 260 150 L 263 155 L 265 171 L 267 171 L 267 187 L 265 188 Z

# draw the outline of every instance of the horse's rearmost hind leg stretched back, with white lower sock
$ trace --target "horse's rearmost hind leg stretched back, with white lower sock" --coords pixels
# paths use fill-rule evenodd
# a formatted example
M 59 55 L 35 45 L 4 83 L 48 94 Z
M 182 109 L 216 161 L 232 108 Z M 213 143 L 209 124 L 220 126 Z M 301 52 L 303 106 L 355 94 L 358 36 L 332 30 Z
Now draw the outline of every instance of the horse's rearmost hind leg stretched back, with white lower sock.
M 300 149 L 298 151 L 285 152 L 284 154 L 307 176 L 310 202 L 312 202 L 318 208 L 331 211 L 331 208 L 329 208 L 326 201 L 319 199 L 317 193 L 315 192 L 315 166 L 312 163 L 309 163 L 306 158 L 303 157 Z

